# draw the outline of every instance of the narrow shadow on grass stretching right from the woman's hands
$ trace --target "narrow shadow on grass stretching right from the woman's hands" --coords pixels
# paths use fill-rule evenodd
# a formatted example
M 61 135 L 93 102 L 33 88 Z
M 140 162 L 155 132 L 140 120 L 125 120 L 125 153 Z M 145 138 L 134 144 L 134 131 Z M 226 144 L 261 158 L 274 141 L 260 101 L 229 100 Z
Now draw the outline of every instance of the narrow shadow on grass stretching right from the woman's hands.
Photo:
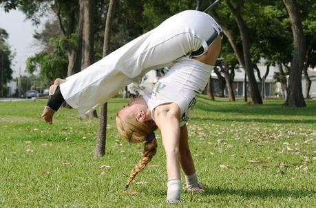
M 205 189 L 205 192 L 202 194 L 207 195 L 238 195 L 244 196 L 246 198 L 260 197 L 260 198 L 302 198 L 306 196 L 315 197 L 316 192 L 313 190 L 304 190 L 304 189 L 230 189 L 222 187 L 212 187 Z

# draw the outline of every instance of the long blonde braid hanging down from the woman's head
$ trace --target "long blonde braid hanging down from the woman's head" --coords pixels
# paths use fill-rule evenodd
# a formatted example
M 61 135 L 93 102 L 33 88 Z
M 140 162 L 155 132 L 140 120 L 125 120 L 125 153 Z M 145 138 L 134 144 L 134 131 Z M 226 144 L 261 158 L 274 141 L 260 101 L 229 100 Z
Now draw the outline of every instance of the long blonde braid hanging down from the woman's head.
M 154 157 L 156 152 L 157 152 L 156 139 L 153 139 L 151 141 L 147 141 L 144 144 L 144 151 L 142 153 L 142 157 L 141 157 L 140 161 L 138 162 L 138 164 L 133 168 L 133 170 L 131 170 L 131 174 L 129 175 L 129 178 L 127 180 L 125 190 L 128 189 L 129 184 L 131 183 L 131 181 L 133 181 L 133 179 L 136 177 L 138 172 L 143 170 L 144 167 L 147 165 L 147 163 L 149 163 L 151 161 L 151 159 Z

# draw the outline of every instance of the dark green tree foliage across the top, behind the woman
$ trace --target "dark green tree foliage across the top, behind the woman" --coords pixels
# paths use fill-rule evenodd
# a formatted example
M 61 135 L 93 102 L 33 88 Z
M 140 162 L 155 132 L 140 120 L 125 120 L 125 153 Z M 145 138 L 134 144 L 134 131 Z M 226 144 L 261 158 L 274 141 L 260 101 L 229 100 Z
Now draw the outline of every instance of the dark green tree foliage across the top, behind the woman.
M 0 5 L 6 11 L 19 9 L 25 13 L 28 19 L 34 24 L 38 24 L 41 17 L 47 12 L 53 12 L 56 19 L 45 24 L 45 30 L 37 32 L 34 37 L 43 45 L 43 51 L 28 60 L 28 71 L 41 70 L 41 75 L 49 80 L 56 77 L 67 76 L 69 67 L 75 56 L 79 57 L 80 33 L 78 32 L 79 4 L 78 0 L 0 0 Z M 96 0 L 94 14 L 94 61 L 102 58 L 102 46 L 104 38 L 105 19 L 107 16 L 108 2 L 106 0 Z M 200 1 L 200 10 L 207 8 L 213 1 Z M 194 10 L 195 0 L 179 1 L 119 1 L 116 8 L 116 16 L 113 19 L 113 30 L 111 35 L 110 51 L 128 43 L 132 39 L 148 32 L 169 16 L 183 10 Z M 306 58 L 305 67 L 315 67 L 316 65 L 316 1 L 297 0 L 304 36 L 306 38 Z M 284 73 L 282 77 L 289 74 L 289 63 L 293 57 L 293 34 L 291 31 L 288 12 L 282 1 L 273 0 L 249 0 L 249 1 L 220 1 L 209 13 L 227 29 L 231 37 L 227 36 L 222 41 L 222 64 L 235 66 L 239 60 L 239 65 L 245 66 L 244 44 L 238 23 L 235 21 L 233 12 L 229 4 L 240 11 L 240 17 L 246 25 L 249 37 L 249 56 L 251 63 L 249 66 L 253 71 L 256 65 L 264 58 L 266 65 L 277 65 L 282 63 Z M 227 34 L 226 34 L 227 35 Z M 233 38 L 233 41 L 229 41 Z M 236 51 L 240 51 L 240 56 L 236 56 Z M 75 54 L 79 53 L 79 55 Z M 237 54 L 238 55 L 238 54 Z M 248 56 L 248 55 L 247 55 Z M 73 67 L 78 67 L 80 63 Z M 68 67 L 68 69 L 67 69 Z M 281 78 L 277 78 L 280 80 Z

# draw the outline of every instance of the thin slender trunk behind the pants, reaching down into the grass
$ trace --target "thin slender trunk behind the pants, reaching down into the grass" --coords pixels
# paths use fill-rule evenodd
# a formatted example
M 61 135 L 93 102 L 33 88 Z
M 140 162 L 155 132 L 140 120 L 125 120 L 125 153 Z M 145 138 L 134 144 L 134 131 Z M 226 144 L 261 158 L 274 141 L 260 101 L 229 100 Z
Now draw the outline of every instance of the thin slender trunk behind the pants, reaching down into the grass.
M 107 20 L 105 21 L 104 43 L 103 43 L 103 57 L 109 54 L 109 41 L 111 36 L 111 24 L 114 17 L 114 8 L 117 0 L 109 1 L 109 8 L 107 10 Z M 100 118 L 98 124 L 98 136 L 96 138 L 96 149 L 94 155 L 96 157 L 103 157 L 105 154 L 105 143 L 107 136 L 107 103 L 100 106 Z

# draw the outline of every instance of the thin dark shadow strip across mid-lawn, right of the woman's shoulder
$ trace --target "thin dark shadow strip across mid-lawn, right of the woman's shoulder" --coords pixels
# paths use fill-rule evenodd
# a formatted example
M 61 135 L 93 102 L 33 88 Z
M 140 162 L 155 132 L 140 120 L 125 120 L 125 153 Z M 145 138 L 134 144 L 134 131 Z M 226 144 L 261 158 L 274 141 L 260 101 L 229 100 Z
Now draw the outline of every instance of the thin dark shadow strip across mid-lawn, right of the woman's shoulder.
M 316 124 L 316 119 L 260 119 L 260 118 L 199 118 L 193 117 L 191 121 L 205 121 L 205 122 L 255 122 L 255 123 L 269 123 L 269 124 Z

